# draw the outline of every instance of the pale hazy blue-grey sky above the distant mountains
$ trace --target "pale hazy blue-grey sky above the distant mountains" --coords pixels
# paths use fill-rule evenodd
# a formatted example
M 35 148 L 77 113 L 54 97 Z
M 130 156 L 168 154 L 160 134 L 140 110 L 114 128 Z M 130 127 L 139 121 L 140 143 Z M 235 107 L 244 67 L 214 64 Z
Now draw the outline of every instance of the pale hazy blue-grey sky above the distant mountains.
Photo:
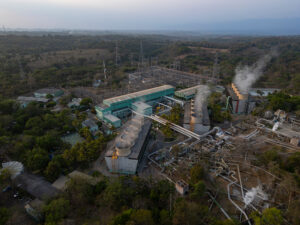
M 188 24 L 295 18 L 299 10 L 300 0 L 0 0 L 0 25 L 181 29 Z

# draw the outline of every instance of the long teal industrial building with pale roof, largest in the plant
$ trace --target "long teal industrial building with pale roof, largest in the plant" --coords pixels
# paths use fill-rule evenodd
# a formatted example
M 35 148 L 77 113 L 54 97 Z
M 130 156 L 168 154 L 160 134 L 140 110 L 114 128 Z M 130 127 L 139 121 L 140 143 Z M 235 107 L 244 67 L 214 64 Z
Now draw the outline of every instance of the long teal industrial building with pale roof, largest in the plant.
M 121 118 L 131 114 L 131 110 L 141 114 L 152 114 L 152 107 L 164 96 L 173 96 L 175 88 L 163 85 L 118 97 L 103 100 L 103 104 L 95 107 L 97 116 L 114 127 L 121 126 Z

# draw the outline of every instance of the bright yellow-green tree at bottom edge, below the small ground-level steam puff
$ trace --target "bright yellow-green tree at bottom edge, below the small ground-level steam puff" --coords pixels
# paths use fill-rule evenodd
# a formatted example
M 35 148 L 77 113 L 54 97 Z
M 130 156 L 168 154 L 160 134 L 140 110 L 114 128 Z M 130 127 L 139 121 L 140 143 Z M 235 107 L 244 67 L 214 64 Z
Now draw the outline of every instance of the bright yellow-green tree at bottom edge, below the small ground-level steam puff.
M 261 216 L 254 213 L 251 217 L 255 225 L 281 225 L 283 223 L 281 211 L 276 208 L 265 209 Z

